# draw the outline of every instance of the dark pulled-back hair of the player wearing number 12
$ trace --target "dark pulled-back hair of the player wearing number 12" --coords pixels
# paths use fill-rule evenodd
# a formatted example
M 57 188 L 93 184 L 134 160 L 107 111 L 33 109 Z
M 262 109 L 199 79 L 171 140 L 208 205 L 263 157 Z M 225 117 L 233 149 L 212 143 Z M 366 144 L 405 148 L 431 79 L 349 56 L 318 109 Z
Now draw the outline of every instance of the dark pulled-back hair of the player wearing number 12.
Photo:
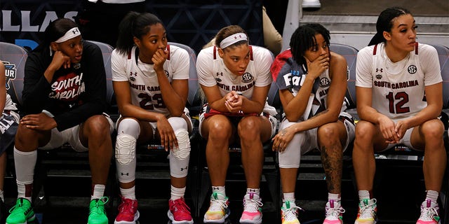
M 377 43 L 382 43 L 387 40 L 384 38 L 384 31 L 390 32 L 391 27 L 393 27 L 393 20 L 398 18 L 401 15 L 408 15 L 410 13 L 409 10 L 402 7 L 390 7 L 382 11 L 380 13 L 379 18 L 377 18 L 376 22 L 376 31 L 377 33 L 371 38 L 369 45 L 375 45 Z

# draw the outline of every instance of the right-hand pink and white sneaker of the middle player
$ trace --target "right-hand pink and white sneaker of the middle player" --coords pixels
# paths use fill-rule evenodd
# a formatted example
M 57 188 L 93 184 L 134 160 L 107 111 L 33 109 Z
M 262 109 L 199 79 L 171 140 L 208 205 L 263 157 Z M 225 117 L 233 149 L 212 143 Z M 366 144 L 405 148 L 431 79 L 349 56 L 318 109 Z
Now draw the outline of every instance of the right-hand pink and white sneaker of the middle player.
M 260 224 L 262 223 L 262 200 L 254 193 L 246 194 L 243 197 L 243 213 L 240 223 Z

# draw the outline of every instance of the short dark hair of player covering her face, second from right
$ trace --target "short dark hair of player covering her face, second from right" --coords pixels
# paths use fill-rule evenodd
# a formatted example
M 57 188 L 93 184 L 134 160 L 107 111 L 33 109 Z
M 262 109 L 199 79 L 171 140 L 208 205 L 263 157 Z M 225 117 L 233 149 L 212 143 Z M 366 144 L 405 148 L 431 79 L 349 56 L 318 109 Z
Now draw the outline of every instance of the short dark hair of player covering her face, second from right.
M 324 41 L 329 45 L 330 33 L 328 29 L 324 28 L 318 23 L 309 23 L 297 27 L 290 38 L 290 51 L 293 59 L 297 64 L 307 64 L 304 58 L 304 53 L 311 47 L 317 45 L 316 34 L 321 34 Z

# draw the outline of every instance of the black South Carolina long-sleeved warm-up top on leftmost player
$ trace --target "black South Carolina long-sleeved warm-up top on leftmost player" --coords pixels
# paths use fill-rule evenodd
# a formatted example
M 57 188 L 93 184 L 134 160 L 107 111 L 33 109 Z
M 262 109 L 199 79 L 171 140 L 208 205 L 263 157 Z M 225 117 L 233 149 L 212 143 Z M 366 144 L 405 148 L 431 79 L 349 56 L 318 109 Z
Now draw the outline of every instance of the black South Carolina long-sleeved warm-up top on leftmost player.
M 26 114 L 46 110 L 62 131 L 106 111 L 105 65 L 97 45 L 84 41 L 81 62 L 60 68 L 48 83 L 43 73 L 52 59 L 49 48 L 28 56 L 22 91 Z

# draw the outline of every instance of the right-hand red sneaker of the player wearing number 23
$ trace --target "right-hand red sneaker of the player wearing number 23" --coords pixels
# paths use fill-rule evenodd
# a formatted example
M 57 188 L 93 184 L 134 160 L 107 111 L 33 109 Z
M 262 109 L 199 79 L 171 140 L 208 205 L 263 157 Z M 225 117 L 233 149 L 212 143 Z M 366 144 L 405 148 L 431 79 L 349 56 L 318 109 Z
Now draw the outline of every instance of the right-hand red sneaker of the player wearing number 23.
M 194 220 L 192 219 L 192 215 L 190 215 L 190 209 L 185 204 L 184 197 L 181 197 L 177 200 L 169 200 L 168 206 L 170 209 L 168 210 L 168 218 L 173 224 L 192 224 Z

